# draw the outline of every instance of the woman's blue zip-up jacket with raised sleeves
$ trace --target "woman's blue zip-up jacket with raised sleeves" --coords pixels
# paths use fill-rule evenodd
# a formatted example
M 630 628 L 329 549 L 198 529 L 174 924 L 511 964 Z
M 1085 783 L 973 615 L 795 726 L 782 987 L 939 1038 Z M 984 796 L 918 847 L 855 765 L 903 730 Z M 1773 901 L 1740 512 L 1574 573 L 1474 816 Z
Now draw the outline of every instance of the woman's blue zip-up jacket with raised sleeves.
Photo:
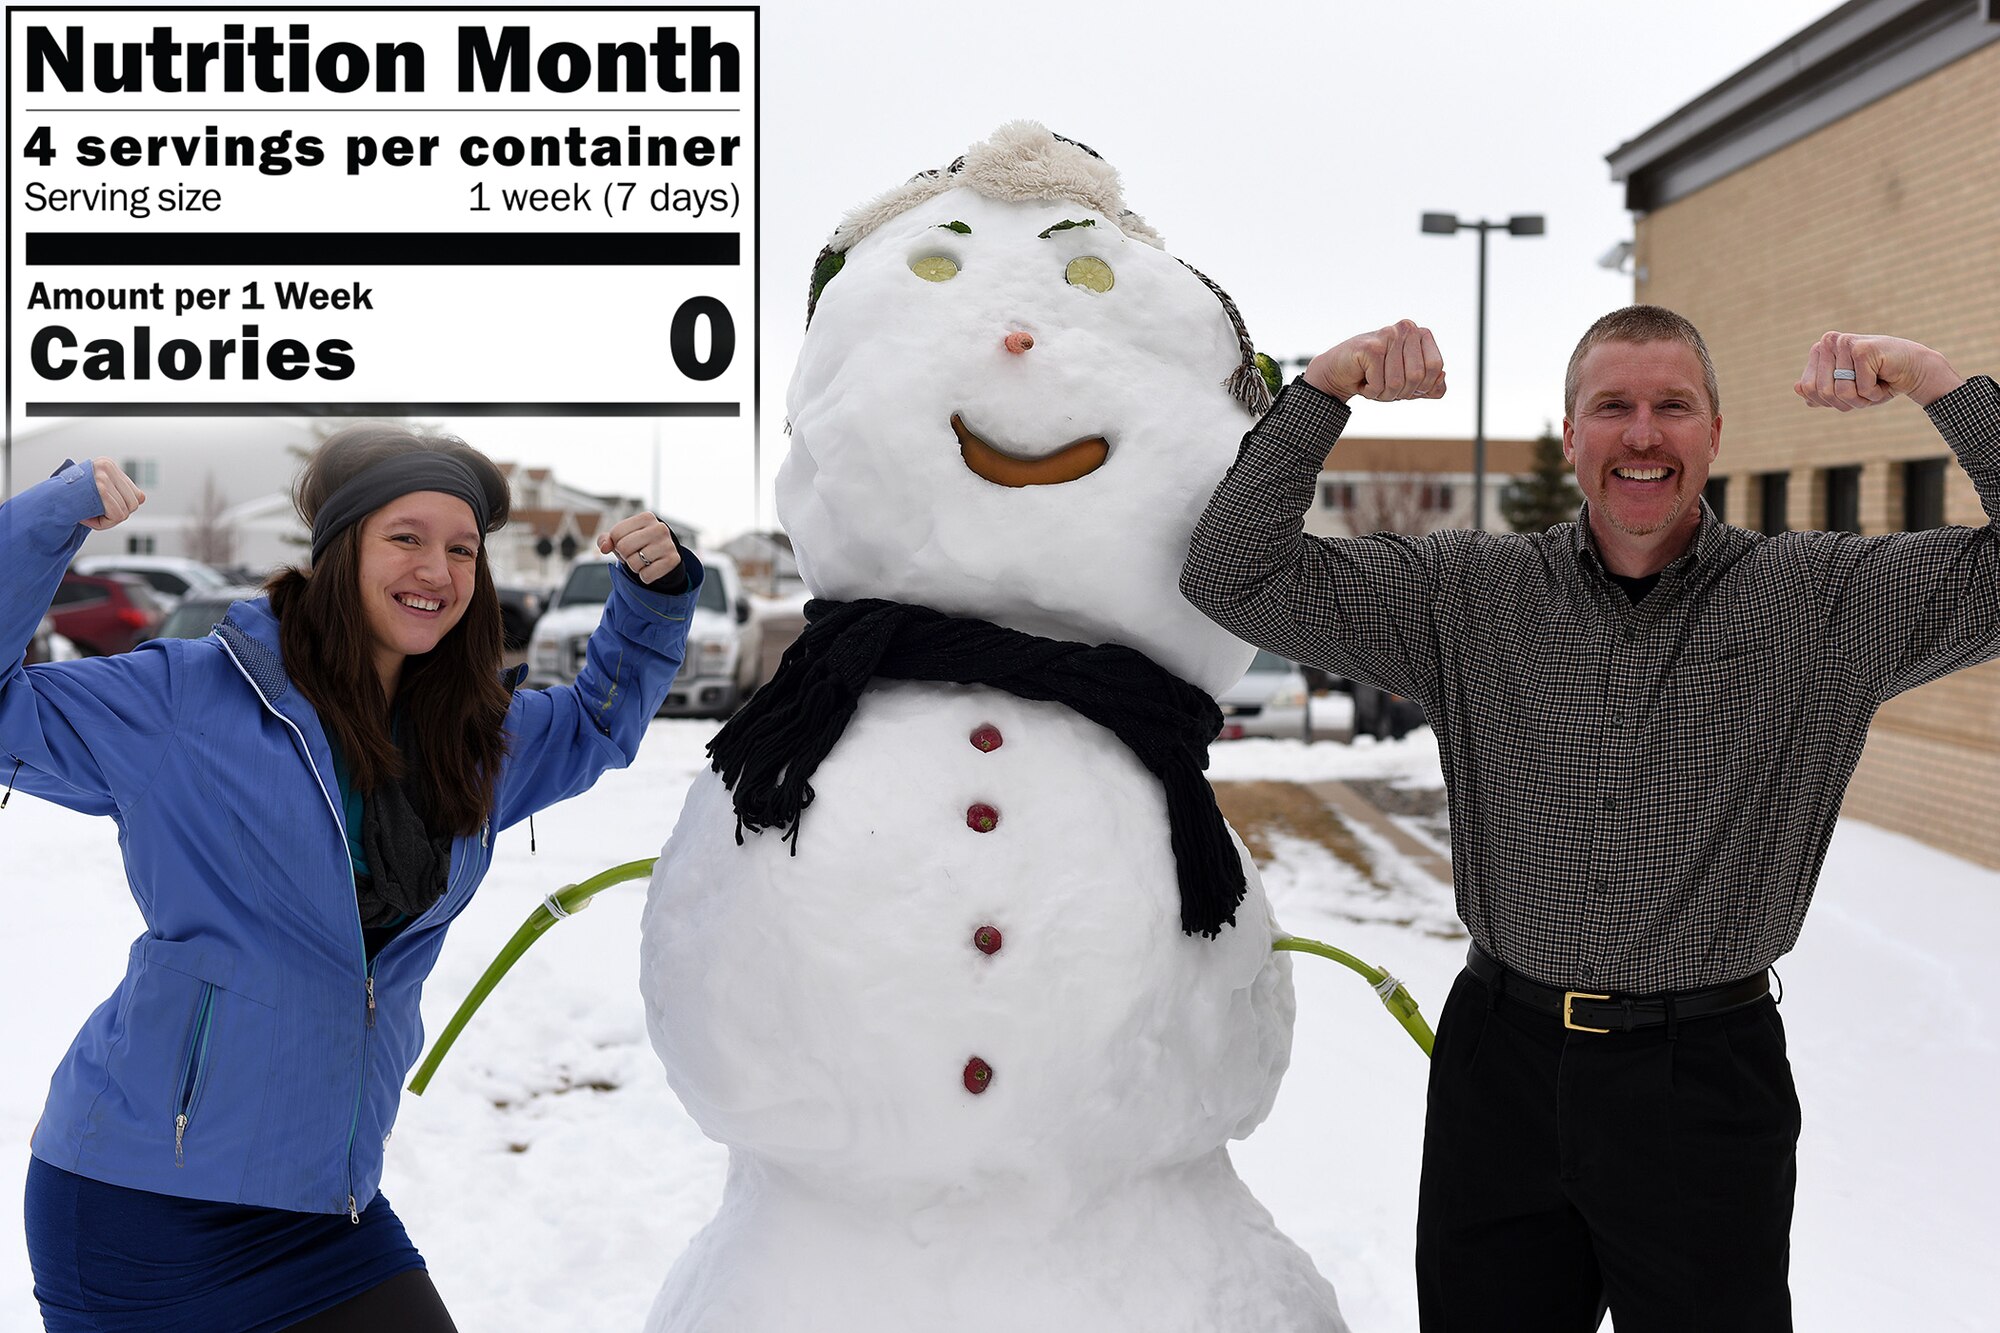
M 208 638 L 22 664 L 98 512 L 88 464 L 0 504 L 0 781 L 110 815 L 146 919 L 50 1081 L 34 1155 L 132 1189 L 352 1213 L 382 1179 L 424 1045 L 418 995 L 492 831 L 632 761 L 702 568 L 682 550 L 680 594 L 612 578 L 576 685 L 514 695 L 492 821 L 454 841 L 444 897 L 370 967 L 326 733 L 286 679 L 266 600 Z

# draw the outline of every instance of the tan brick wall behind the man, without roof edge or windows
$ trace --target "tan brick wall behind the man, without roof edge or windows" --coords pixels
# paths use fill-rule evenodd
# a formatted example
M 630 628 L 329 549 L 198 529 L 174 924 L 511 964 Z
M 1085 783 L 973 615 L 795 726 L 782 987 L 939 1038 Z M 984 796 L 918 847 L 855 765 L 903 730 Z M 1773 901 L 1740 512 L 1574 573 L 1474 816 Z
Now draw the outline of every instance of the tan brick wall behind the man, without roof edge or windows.
M 1788 470 L 1790 524 L 1816 528 L 1818 470 L 1858 462 L 1862 530 L 1898 530 L 1898 464 L 1946 452 L 1930 422 L 1906 402 L 1810 410 L 1792 382 L 1828 328 L 2000 374 L 2000 44 L 1640 218 L 1636 252 L 1638 298 L 1692 318 L 1716 358 L 1730 518 L 1754 526 L 1752 474 Z M 1956 466 L 1946 520 L 1982 520 Z M 1890 701 L 1846 811 L 2000 867 L 2000 664 Z

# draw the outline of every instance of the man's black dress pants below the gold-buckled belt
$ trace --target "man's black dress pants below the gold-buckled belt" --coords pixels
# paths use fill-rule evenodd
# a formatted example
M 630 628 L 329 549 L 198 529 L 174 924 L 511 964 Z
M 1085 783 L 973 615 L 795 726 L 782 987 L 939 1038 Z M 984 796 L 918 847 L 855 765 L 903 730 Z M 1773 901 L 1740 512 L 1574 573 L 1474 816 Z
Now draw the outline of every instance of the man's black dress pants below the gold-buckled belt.
M 1572 1033 L 1460 973 L 1430 1063 L 1424 1333 L 1780 1333 L 1798 1097 L 1770 999 Z

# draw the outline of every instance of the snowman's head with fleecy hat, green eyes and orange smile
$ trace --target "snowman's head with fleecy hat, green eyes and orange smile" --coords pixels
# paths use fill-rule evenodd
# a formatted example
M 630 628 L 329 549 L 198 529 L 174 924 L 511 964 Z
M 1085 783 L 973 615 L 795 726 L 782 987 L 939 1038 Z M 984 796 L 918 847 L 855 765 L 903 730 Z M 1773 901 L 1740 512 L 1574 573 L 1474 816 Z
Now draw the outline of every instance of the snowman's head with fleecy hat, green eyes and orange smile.
M 1118 642 L 1210 693 L 1244 673 L 1178 576 L 1268 386 L 1110 166 L 1004 126 L 850 214 L 812 294 L 778 512 L 816 596 Z

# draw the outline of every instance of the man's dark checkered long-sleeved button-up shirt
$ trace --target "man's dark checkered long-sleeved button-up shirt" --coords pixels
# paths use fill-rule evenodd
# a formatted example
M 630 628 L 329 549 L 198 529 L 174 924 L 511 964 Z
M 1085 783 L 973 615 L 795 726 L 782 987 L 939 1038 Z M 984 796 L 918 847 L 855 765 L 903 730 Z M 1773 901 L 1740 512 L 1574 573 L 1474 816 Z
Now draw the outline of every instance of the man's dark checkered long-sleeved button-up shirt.
M 1798 941 L 1876 707 L 2000 654 L 2000 388 L 1928 412 L 1986 526 L 1762 536 L 1702 504 L 1632 604 L 1588 510 L 1532 536 L 1304 534 L 1348 408 L 1300 380 L 1244 436 L 1182 590 L 1424 705 L 1486 953 L 1554 987 L 1734 981 Z

